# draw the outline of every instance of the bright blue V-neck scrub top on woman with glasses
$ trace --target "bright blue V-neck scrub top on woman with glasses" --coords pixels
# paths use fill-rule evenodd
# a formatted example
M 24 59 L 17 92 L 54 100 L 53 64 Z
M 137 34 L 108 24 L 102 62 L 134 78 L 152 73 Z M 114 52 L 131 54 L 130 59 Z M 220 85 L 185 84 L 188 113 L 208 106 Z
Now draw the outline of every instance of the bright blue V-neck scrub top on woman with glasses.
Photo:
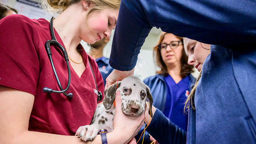
M 181 129 L 187 130 L 188 115 L 184 114 L 184 103 L 187 99 L 186 91 L 189 90 L 189 77 L 181 79 L 176 84 L 170 75 L 164 77 L 167 84 L 167 97 L 164 107 L 164 115 Z

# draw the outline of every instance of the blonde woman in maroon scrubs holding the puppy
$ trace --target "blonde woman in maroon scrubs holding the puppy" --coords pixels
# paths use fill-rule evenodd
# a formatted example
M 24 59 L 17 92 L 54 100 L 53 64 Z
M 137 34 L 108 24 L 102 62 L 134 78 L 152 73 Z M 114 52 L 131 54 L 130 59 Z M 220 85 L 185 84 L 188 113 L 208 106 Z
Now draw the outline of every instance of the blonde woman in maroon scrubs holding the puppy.
M 53 20 L 57 41 L 68 53 L 71 84 L 67 93 L 44 93 L 44 87 L 60 90 L 44 44 L 52 39 L 49 21 L 11 15 L 0 21 L 0 143 L 84 143 L 74 136 L 79 126 L 88 125 L 97 106 L 98 90 L 104 91 L 96 62 L 81 40 L 93 44 L 109 38 L 116 26 L 120 0 L 48 1 L 61 10 Z M 60 49 L 51 46 L 52 59 L 61 85 L 68 84 L 68 68 Z M 89 66 L 92 65 L 92 70 Z M 144 115 L 125 116 L 117 96 L 115 128 L 109 143 L 127 143 L 139 130 Z M 125 130 L 125 133 L 123 132 Z M 116 137 L 116 135 L 119 137 Z M 73 135 L 73 136 L 72 136 Z M 96 136 L 93 142 L 101 143 Z

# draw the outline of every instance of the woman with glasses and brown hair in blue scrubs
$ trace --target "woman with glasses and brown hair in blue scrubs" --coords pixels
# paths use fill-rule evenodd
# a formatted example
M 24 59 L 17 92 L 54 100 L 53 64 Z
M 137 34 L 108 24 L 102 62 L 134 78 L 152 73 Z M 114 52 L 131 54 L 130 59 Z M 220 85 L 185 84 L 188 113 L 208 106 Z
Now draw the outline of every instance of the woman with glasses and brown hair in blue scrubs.
M 154 47 L 154 57 L 160 70 L 156 72 L 157 75 L 144 80 L 150 88 L 153 105 L 174 124 L 186 130 L 188 115 L 183 112 L 184 102 L 195 81 L 190 74 L 193 66 L 187 63 L 183 38 L 162 32 L 158 44 Z M 151 142 L 149 137 L 146 138 L 146 143 Z

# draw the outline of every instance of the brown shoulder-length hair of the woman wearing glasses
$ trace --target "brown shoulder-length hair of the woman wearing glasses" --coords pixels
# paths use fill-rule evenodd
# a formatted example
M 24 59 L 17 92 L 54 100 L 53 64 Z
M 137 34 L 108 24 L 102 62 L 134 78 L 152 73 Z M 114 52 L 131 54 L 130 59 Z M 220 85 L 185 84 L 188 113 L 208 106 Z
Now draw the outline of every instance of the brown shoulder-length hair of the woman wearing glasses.
M 156 73 L 159 75 L 164 75 L 164 76 L 168 75 L 168 71 L 167 71 L 167 67 L 162 59 L 161 52 L 158 49 L 158 44 L 162 43 L 162 41 L 164 40 L 164 36 L 166 34 L 168 34 L 168 33 L 166 33 L 166 32 L 161 33 L 159 42 L 156 44 L 156 46 L 154 47 L 154 50 L 153 50 L 154 57 L 156 60 L 156 65 L 161 68 L 161 70 L 157 71 Z M 176 37 L 182 42 L 182 46 L 183 46 L 183 38 L 179 37 L 179 36 L 176 36 Z M 180 65 L 181 65 L 181 69 L 180 69 L 181 78 L 185 78 L 186 76 L 188 76 L 188 73 L 193 72 L 194 66 L 188 65 L 188 56 L 186 55 L 184 48 L 182 50 L 182 55 L 180 58 Z

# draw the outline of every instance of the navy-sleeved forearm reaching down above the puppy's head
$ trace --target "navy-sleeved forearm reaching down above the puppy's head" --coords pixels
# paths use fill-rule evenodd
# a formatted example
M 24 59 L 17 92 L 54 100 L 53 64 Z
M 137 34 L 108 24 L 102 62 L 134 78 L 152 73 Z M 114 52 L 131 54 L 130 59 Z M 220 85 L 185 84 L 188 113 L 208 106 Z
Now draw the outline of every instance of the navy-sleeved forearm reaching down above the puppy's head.
M 109 64 L 112 68 L 129 71 L 135 67 L 140 48 L 152 26 L 145 23 L 141 19 L 143 17 L 138 17 L 140 13 L 131 11 L 124 2 L 120 4 Z

